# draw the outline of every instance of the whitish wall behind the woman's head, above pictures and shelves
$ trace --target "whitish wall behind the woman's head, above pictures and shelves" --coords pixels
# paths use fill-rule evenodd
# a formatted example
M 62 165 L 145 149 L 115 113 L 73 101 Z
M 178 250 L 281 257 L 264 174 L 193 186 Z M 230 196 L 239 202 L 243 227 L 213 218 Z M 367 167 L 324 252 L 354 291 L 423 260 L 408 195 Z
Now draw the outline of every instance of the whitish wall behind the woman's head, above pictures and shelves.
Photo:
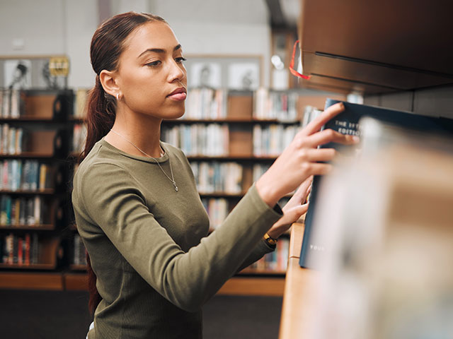
M 164 17 L 185 54 L 262 55 L 268 85 L 270 27 L 264 0 L 110 0 L 112 14 L 151 11 Z M 96 0 L 1 0 L 0 56 L 67 54 L 69 86 L 91 87 L 89 46 L 98 26 Z M 21 43 L 19 49 L 13 42 Z

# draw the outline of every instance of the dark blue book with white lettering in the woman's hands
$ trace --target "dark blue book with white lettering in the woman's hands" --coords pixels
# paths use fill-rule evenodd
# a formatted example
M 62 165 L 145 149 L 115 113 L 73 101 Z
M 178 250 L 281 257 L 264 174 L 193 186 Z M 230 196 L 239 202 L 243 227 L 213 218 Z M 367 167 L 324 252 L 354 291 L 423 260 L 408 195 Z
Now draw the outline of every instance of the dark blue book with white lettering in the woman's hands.
M 340 102 L 338 100 L 326 100 L 325 109 Z M 423 131 L 424 133 L 448 134 L 453 133 L 453 120 L 443 117 L 428 117 L 410 112 L 397 111 L 394 109 L 386 109 L 382 107 L 373 107 L 367 105 L 352 104 L 343 102 L 345 110 L 336 117 L 328 121 L 322 129 L 333 129 L 343 134 L 360 136 L 359 121 L 362 117 L 372 117 L 387 124 L 392 124 L 403 129 L 411 131 Z M 320 148 L 354 148 L 357 146 L 344 146 L 338 143 L 328 143 L 319 146 Z M 305 217 L 304 239 L 302 241 L 302 249 L 299 259 L 299 265 L 304 268 L 319 269 L 320 261 L 328 251 L 323 239 L 315 239 L 313 235 L 316 220 L 314 222 L 314 211 L 316 205 L 321 204 L 317 196 L 322 177 L 315 176 L 311 185 L 311 195 L 309 209 Z

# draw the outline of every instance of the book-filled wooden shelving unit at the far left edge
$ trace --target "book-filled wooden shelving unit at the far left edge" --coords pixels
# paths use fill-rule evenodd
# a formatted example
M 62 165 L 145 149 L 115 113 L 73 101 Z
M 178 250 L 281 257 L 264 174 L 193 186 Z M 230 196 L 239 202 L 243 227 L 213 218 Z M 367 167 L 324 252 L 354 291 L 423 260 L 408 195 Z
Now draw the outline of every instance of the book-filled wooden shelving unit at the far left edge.
M 72 96 L 71 90 L 0 90 L 0 275 L 18 288 L 33 288 L 19 280 L 35 276 L 36 288 L 58 285 Z

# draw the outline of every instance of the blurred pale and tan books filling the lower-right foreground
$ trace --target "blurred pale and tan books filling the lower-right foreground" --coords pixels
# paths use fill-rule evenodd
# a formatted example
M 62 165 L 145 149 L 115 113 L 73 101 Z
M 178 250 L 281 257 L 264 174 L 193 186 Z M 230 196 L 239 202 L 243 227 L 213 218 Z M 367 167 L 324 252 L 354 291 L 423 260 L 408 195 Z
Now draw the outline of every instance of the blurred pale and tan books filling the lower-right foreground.
M 320 187 L 329 251 L 301 338 L 453 338 L 453 139 L 362 126 L 362 154 Z

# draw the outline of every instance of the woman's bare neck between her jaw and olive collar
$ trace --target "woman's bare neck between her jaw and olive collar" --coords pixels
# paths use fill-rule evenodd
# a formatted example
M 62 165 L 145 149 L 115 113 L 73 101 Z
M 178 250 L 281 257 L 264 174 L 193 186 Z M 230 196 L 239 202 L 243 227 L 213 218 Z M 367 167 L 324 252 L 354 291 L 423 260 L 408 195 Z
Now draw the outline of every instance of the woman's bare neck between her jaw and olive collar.
M 125 153 L 138 156 L 144 156 L 146 153 L 151 157 L 161 157 L 161 122 L 162 119 L 142 114 L 129 114 L 127 119 L 124 114 L 117 114 L 112 127 L 117 133 L 110 131 L 104 139 Z

